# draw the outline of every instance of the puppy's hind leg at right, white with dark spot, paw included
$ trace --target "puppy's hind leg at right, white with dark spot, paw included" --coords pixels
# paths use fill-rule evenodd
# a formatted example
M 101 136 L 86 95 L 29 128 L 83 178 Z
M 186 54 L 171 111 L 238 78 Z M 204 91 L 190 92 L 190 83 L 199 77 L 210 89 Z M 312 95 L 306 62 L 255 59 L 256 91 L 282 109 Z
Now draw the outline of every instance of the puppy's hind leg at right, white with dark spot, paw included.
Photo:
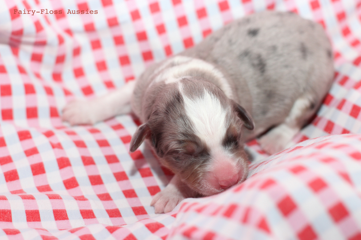
M 293 145 L 292 138 L 317 110 L 311 99 L 308 96 L 298 98 L 285 121 L 260 137 L 260 144 L 265 151 L 274 154 Z

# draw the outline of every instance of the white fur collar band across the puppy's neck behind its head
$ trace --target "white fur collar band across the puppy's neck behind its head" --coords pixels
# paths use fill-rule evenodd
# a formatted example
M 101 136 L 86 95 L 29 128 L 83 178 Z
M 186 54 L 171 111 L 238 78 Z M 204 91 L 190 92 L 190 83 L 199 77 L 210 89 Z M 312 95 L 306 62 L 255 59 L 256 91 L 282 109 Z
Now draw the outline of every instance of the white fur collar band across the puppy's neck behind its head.
M 174 66 L 167 69 L 166 67 L 172 63 Z M 166 84 L 179 82 L 183 77 L 187 77 L 185 74 L 190 69 L 197 69 L 202 72 L 213 74 L 213 76 L 219 80 L 221 90 L 228 98 L 232 98 L 232 88 L 228 84 L 222 72 L 214 67 L 214 65 L 196 58 L 175 56 L 174 58 L 167 60 L 158 69 L 156 69 L 155 74 L 158 74 L 158 76 L 153 82 L 156 83 L 165 81 Z

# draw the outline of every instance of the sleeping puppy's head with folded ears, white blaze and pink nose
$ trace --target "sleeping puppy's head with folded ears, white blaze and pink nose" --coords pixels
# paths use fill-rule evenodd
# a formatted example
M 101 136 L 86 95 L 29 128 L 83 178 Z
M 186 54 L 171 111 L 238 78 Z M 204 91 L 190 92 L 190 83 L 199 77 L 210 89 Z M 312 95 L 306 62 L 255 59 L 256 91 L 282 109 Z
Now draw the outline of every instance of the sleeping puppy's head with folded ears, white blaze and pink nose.
M 200 194 L 213 195 L 247 177 L 244 127 L 253 129 L 251 116 L 218 87 L 183 79 L 157 96 L 130 151 L 149 139 L 164 166 Z

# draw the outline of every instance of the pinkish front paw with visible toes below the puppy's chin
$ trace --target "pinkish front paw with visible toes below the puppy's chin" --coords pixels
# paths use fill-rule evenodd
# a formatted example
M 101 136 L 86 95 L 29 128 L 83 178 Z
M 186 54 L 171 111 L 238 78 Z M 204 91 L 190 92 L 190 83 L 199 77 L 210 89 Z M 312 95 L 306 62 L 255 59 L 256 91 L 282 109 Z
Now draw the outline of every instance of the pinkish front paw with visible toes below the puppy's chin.
M 174 187 L 168 186 L 157 193 L 152 199 L 151 206 L 154 207 L 155 213 L 171 212 L 175 206 L 177 206 L 178 203 L 184 199 L 184 196 L 181 192 L 179 192 Z

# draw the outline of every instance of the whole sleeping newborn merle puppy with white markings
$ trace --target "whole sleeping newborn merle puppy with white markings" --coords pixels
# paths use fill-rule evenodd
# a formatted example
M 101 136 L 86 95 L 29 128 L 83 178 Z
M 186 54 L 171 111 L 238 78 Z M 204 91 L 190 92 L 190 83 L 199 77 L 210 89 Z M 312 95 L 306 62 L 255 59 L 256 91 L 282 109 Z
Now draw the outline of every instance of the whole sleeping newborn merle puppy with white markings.
M 155 212 L 169 212 L 184 198 L 245 180 L 245 141 L 264 133 L 266 151 L 283 150 L 329 91 L 332 59 L 317 23 L 293 13 L 256 13 L 151 65 L 113 93 L 70 102 L 62 119 L 93 124 L 132 109 L 143 124 L 130 151 L 149 140 L 175 174 L 151 203 Z

